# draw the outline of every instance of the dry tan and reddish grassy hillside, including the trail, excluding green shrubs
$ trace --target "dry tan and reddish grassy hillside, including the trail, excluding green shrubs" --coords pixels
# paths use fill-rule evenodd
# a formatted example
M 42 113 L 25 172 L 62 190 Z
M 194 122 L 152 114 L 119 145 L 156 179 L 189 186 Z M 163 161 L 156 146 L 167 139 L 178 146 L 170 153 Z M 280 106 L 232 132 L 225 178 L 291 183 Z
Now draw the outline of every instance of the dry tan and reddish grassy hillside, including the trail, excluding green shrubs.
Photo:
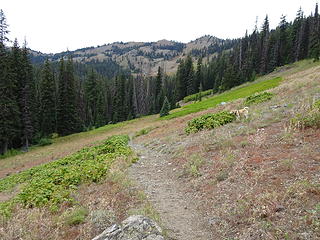
M 119 161 L 105 182 L 85 184 L 75 191 L 77 204 L 88 210 L 83 222 L 68 225 L 62 217 L 78 205 L 62 205 L 58 213 L 17 207 L 12 219 L 0 222 L 0 238 L 41 239 L 46 234 L 51 239 L 90 239 L 101 231 L 97 222 L 110 223 L 109 215 L 100 214 L 108 209 L 115 216 L 113 221 L 132 213 L 150 215 L 161 222 L 169 239 L 180 240 L 186 235 L 203 240 L 208 236 L 319 239 L 320 129 L 297 128 L 290 120 L 307 116 L 310 106 L 320 100 L 320 66 L 298 62 L 258 82 L 263 84 L 277 77 L 283 80 L 268 90 L 274 94 L 271 100 L 250 105 L 248 119 L 213 130 L 185 133 L 189 120 L 206 113 L 240 109 L 243 98 L 215 107 L 208 105 L 170 120 L 159 121 L 154 115 L 58 138 L 51 146 L 1 160 L 4 177 L 62 158 L 115 134 L 129 134 L 131 146 L 141 158 L 130 168 L 130 174 L 128 166 L 123 167 L 125 164 Z M 129 176 L 130 182 L 123 176 Z M 0 203 L 18 191 L 19 187 L 0 192 Z M 140 209 L 142 202 L 147 204 Z M 176 203 L 179 206 L 175 207 Z M 197 223 L 188 230 L 192 216 L 196 216 Z M 193 231 L 187 234 L 195 226 L 203 229 L 202 236 Z

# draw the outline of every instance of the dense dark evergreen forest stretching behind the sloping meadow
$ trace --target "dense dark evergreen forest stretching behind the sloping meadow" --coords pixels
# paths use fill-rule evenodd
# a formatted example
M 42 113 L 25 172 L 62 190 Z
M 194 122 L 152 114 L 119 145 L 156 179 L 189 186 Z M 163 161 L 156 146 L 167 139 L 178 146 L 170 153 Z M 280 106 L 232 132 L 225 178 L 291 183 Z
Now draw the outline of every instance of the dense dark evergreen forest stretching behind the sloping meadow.
M 177 107 L 185 96 L 202 90 L 222 92 L 257 75 L 295 61 L 320 56 L 320 17 L 299 9 L 288 22 L 285 16 L 269 29 L 268 16 L 259 29 L 230 41 L 233 48 L 214 46 L 215 57 L 197 51 L 179 63 L 174 75 L 159 67 L 154 77 L 131 75 L 112 62 L 111 70 L 73 62 L 66 54 L 59 61 L 33 65 L 27 44 L 8 46 L 9 28 L 0 11 L 0 154 L 53 135 L 64 136 L 105 124 L 159 113 Z

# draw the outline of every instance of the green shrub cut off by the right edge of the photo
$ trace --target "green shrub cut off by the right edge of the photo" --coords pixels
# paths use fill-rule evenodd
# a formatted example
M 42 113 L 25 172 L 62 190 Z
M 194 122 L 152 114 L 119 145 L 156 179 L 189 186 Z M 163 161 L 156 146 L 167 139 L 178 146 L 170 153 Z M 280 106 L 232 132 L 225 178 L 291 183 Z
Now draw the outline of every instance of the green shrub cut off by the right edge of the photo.
M 305 113 L 291 118 L 289 124 L 295 129 L 320 128 L 320 100 L 316 101 Z

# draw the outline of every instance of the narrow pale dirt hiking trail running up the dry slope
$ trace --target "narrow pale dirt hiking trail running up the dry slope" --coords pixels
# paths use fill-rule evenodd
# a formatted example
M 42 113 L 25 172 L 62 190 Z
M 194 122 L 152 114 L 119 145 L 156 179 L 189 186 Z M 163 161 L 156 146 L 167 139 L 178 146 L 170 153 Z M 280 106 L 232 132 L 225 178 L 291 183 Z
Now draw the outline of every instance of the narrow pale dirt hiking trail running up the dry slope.
M 192 196 L 183 191 L 168 156 L 134 142 L 130 146 L 140 155 L 140 160 L 129 169 L 129 177 L 160 214 L 169 239 L 212 239 L 208 221 L 197 210 Z

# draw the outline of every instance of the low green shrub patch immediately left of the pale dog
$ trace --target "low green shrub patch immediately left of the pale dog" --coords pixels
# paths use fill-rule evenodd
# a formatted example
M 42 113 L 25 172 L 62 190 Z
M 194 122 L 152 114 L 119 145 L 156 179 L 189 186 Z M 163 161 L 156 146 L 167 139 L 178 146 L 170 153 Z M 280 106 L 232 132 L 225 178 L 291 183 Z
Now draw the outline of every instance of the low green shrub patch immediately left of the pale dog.
M 219 113 L 209 113 L 201 117 L 190 120 L 185 128 L 187 134 L 196 133 L 202 129 L 212 129 L 224 124 L 230 123 L 236 119 L 236 116 L 227 111 Z

